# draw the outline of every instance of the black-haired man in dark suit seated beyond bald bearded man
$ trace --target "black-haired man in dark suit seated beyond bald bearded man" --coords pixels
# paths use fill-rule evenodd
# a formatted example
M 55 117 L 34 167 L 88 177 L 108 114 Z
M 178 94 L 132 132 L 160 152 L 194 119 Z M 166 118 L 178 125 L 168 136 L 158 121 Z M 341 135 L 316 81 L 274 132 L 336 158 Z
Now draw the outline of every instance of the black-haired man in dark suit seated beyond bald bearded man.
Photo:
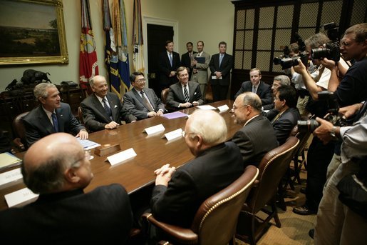
M 284 144 L 297 121 L 301 120 L 296 106 L 296 90 L 290 85 L 279 86 L 274 97 L 274 109 L 267 113 L 267 118 L 272 122 L 279 145 Z

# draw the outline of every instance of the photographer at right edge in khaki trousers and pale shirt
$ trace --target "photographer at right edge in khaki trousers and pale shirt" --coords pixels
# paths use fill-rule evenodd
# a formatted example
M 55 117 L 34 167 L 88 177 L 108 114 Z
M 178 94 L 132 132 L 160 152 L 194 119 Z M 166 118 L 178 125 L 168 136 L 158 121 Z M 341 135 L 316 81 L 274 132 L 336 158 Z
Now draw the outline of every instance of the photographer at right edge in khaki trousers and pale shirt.
M 357 112 L 356 122 L 353 126 L 334 126 L 331 122 L 316 118 L 320 126 L 314 131 L 314 136 L 325 143 L 337 137 L 341 139 L 341 164 L 331 175 L 324 188 L 317 214 L 316 229 L 314 234 L 315 244 L 364 244 L 367 239 L 366 205 L 357 205 L 351 193 L 359 190 L 366 196 L 366 189 L 358 185 L 346 192 L 347 197 L 352 196 L 353 204 L 339 199 L 340 186 L 338 183 L 344 176 L 355 174 L 353 179 L 366 186 L 367 164 L 367 103 L 353 104 L 339 110 L 344 116 Z M 364 173 L 364 174 L 363 174 Z M 358 179 L 357 179 L 358 178 Z M 351 184 L 351 182 L 348 182 Z M 349 187 L 349 186 L 348 186 Z M 360 189 L 361 188 L 361 189 Z M 366 188 L 366 187 L 364 187 Z M 356 193 L 356 192 L 354 192 Z M 366 198 L 366 197 L 364 197 Z M 358 200 L 358 199 L 357 199 Z M 344 204 L 343 204 L 344 203 Z M 363 217 L 364 216 L 364 217 Z

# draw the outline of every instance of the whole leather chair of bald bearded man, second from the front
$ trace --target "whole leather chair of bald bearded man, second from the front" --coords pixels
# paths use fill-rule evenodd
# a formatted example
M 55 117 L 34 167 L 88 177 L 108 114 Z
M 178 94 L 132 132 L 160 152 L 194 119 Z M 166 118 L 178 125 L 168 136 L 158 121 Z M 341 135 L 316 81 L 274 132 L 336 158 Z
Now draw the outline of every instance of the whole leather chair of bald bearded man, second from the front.
M 276 190 L 279 181 L 286 173 L 294 152 L 299 145 L 299 139 L 294 136 L 289 137 L 284 144 L 269 151 L 259 164 L 259 177 L 254 184 L 247 201 L 239 213 L 236 238 L 247 241 L 249 244 L 256 244 L 257 240 L 267 231 L 269 221 L 274 218 L 276 226 L 281 223 L 276 210 Z M 271 210 L 264 209 L 269 206 Z M 267 214 L 267 219 L 257 216 L 259 211 Z

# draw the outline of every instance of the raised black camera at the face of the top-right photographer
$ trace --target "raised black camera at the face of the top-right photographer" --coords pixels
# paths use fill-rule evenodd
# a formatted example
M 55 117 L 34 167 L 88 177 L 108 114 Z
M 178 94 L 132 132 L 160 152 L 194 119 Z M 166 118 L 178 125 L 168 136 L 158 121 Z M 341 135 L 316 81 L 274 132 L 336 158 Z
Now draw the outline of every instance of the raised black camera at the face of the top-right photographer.
M 328 32 L 328 37 L 331 41 L 325 44 L 324 48 L 312 49 L 311 57 L 312 59 L 326 58 L 338 62 L 340 59 L 338 27 L 336 27 L 334 22 L 331 22 L 324 24 L 323 29 Z

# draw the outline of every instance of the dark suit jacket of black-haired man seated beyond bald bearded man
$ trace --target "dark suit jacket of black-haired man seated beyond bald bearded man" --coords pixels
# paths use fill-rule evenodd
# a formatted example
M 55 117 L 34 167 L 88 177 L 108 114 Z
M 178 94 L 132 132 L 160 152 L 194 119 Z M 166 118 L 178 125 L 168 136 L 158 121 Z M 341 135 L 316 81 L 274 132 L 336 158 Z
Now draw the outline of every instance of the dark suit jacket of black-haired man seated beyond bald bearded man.
M 267 118 L 272 121 L 275 116 L 279 114 L 279 111 L 272 109 L 268 111 Z M 272 125 L 275 131 L 276 139 L 278 139 L 279 145 L 284 144 L 286 139 L 288 139 L 291 130 L 297 125 L 297 121 L 301 120 L 301 115 L 298 109 L 289 108 L 279 116 L 278 119 L 272 121 Z

